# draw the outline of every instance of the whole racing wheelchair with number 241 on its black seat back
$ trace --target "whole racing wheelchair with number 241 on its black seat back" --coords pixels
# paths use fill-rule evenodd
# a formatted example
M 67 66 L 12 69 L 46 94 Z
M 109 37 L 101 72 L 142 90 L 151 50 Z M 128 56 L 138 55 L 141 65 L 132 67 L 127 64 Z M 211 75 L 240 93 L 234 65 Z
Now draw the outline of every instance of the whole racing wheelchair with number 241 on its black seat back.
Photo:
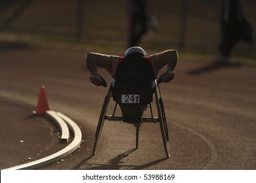
M 108 120 L 122 121 L 133 124 L 136 127 L 136 149 L 139 146 L 139 127 L 145 122 L 159 123 L 166 157 L 170 158 L 166 114 L 164 112 L 164 105 L 158 86 L 158 84 L 162 82 L 161 76 L 158 80 L 151 81 L 150 87 L 143 86 L 143 84 L 146 83 L 145 79 L 140 78 L 138 82 L 136 76 L 134 76 L 134 78 L 136 79 L 136 84 L 132 82 L 132 84 L 124 85 L 116 84 L 115 79 L 112 78 L 111 86 L 109 86 L 109 90 L 101 108 L 100 118 L 95 134 L 93 155 L 96 154 L 103 125 L 105 121 Z M 130 78 L 124 80 L 130 80 Z M 107 86 L 105 80 L 102 80 L 102 83 L 103 86 Z M 113 100 L 111 100 L 111 98 L 113 98 Z M 153 98 L 155 98 L 155 105 L 157 108 L 155 116 L 153 115 L 153 108 L 151 105 L 151 103 L 153 103 Z M 111 101 L 115 104 L 112 114 L 108 112 L 109 103 L 111 103 Z M 117 106 L 120 107 L 122 115 L 116 114 Z M 150 112 L 147 116 L 144 116 L 143 113 L 147 108 L 149 108 Z

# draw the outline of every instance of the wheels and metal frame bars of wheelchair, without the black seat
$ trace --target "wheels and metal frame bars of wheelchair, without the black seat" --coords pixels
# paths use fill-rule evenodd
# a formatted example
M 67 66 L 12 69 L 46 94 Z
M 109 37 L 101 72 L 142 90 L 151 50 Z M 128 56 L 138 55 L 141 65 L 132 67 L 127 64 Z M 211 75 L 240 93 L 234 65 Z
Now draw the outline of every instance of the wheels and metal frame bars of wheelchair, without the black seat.
M 105 123 L 105 120 L 109 120 L 109 121 L 122 121 L 123 120 L 123 115 L 122 116 L 115 115 L 115 111 L 116 111 L 117 104 L 118 104 L 117 101 L 115 101 L 115 108 L 113 110 L 113 114 L 112 115 L 107 114 L 107 110 L 109 107 L 111 97 L 113 97 L 114 87 L 112 86 L 112 83 L 113 83 L 113 80 L 111 82 L 111 86 L 109 87 L 107 95 L 105 96 L 103 106 L 101 108 L 100 118 L 98 121 L 98 126 L 97 126 L 96 134 L 95 134 L 93 154 L 96 154 L 96 150 L 98 148 L 98 143 L 100 141 L 101 132 L 103 130 L 103 125 Z M 150 102 L 148 105 L 150 108 L 151 116 L 149 116 L 149 117 L 141 116 L 141 122 L 134 124 L 136 127 L 136 149 L 139 146 L 139 127 L 141 126 L 141 124 L 143 124 L 144 122 L 155 122 L 155 123 L 158 122 L 160 124 L 160 130 L 162 133 L 162 141 L 164 143 L 164 150 L 166 153 L 166 157 L 170 158 L 170 146 L 169 146 L 168 127 L 166 124 L 166 114 L 164 112 L 164 104 L 162 102 L 162 97 L 160 95 L 158 82 L 156 80 L 155 80 L 155 87 L 153 88 L 153 95 L 154 94 L 155 94 L 155 101 L 156 101 L 156 108 L 157 108 L 158 116 L 157 117 L 153 116 L 153 110 L 152 110 L 151 102 Z

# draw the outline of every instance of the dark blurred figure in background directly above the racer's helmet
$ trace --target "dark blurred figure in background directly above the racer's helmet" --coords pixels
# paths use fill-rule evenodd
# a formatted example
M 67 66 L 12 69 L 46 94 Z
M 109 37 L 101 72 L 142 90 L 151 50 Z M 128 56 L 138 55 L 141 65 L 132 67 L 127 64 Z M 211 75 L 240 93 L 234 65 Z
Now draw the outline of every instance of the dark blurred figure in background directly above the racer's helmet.
M 129 43 L 128 47 L 137 46 L 141 37 L 149 28 L 156 30 L 158 25 L 154 16 L 149 14 L 147 0 L 129 0 Z

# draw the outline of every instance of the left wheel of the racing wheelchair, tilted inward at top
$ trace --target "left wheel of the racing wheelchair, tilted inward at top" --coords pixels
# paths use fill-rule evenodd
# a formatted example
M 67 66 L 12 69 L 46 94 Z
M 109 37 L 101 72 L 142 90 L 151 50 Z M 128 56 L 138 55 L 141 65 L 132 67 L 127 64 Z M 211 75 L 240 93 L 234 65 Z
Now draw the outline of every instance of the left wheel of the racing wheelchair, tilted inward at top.
M 96 150 L 98 148 L 98 142 L 100 141 L 101 132 L 102 132 L 102 129 L 103 129 L 103 125 L 105 123 L 105 115 L 107 114 L 107 109 L 109 107 L 109 101 L 110 101 L 110 98 L 111 98 L 111 93 L 112 93 L 112 88 L 110 86 L 109 92 L 105 96 L 105 100 L 104 100 L 103 106 L 101 108 L 100 118 L 99 118 L 98 126 L 97 126 L 97 129 L 96 129 L 96 133 L 95 133 L 94 149 L 93 149 L 92 154 L 96 154 Z

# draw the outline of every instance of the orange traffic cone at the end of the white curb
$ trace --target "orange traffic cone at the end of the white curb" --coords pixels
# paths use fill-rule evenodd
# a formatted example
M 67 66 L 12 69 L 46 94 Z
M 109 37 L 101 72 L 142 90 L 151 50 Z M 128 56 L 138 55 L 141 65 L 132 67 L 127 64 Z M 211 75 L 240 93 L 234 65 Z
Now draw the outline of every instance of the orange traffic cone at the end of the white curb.
M 45 95 L 45 86 L 42 86 L 37 101 L 37 109 L 33 110 L 33 114 L 45 114 L 49 110 L 49 105 Z

